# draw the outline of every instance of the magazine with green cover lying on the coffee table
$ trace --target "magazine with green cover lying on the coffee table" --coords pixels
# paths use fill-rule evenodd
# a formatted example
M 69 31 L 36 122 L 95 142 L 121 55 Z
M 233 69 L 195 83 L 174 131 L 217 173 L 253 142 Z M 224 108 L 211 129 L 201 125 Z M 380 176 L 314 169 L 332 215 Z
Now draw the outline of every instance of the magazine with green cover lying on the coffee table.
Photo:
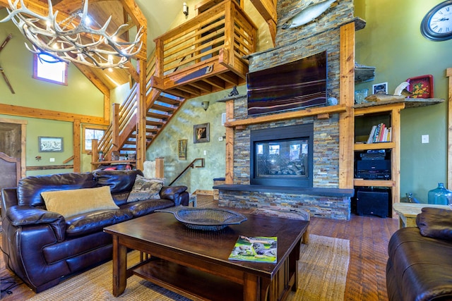
M 276 263 L 278 238 L 240 235 L 229 256 L 232 260 L 243 262 Z

